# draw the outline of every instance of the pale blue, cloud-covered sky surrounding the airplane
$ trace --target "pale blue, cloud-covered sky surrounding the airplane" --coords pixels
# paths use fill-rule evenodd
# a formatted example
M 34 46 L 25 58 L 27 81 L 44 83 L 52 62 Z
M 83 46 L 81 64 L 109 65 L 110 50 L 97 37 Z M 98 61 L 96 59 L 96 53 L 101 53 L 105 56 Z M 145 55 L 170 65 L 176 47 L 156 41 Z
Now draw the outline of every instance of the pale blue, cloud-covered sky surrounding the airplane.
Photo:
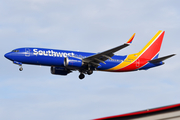
M 177 0 L 0 0 L 0 119 L 89 120 L 180 103 L 180 2 Z M 116 54 L 140 51 L 164 30 L 160 56 L 176 56 L 147 71 L 94 72 L 79 80 L 4 57 L 20 47 Z

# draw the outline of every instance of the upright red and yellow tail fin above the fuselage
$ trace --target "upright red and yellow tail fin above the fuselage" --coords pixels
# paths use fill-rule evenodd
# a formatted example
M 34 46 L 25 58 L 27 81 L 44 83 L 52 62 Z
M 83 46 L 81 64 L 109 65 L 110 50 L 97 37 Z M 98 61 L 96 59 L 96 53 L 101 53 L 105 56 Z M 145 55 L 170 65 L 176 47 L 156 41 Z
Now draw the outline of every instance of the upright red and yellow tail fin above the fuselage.
M 138 53 L 141 58 L 152 60 L 157 58 L 161 48 L 165 31 L 158 31 L 156 35 L 146 44 L 146 46 Z

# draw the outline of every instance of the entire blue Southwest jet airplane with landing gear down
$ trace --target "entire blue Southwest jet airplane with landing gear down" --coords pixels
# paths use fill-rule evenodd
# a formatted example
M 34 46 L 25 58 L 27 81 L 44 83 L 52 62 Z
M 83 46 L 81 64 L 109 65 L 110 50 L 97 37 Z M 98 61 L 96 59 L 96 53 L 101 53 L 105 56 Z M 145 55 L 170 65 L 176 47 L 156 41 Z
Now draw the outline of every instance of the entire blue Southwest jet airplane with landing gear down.
M 50 66 L 50 71 L 54 75 L 67 75 L 73 71 L 79 71 L 79 79 L 83 79 L 85 74 L 91 75 L 93 71 L 148 70 L 163 65 L 164 60 L 175 55 L 158 58 L 164 33 L 165 31 L 158 31 L 142 50 L 123 56 L 114 53 L 129 46 L 135 33 L 126 43 L 99 53 L 25 47 L 14 49 L 4 56 L 19 65 L 20 71 L 23 70 L 22 64 Z

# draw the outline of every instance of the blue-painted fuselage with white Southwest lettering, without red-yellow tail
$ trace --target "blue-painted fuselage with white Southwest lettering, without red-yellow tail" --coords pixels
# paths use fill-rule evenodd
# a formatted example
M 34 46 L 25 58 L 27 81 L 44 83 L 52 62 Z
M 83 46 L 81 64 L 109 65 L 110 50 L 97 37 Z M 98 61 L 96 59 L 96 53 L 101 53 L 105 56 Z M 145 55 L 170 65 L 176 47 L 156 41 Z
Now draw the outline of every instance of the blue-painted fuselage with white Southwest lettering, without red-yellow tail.
M 64 67 L 64 59 L 66 57 L 76 57 L 83 59 L 94 54 L 95 53 L 45 48 L 19 48 L 5 54 L 5 57 L 11 61 L 22 64 Z M 114 55 L 112 59 L 106 60 L 105 64 L 100 63 L 100 66 L 97 67 L 97 70 L 110 69 L 123 62 L 126 57 L 127 55 Z

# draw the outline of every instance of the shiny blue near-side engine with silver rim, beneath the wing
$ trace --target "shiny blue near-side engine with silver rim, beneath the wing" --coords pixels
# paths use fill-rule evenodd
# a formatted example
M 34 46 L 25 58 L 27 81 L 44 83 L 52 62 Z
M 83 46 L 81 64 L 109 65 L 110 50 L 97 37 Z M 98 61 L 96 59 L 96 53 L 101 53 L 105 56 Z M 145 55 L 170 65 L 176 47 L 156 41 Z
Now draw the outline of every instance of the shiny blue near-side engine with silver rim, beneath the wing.
M 66 57 L 64 58 L 64 66 L 70 68 L 79 68 L 83 65 L 83 62 L 79 58 Z

